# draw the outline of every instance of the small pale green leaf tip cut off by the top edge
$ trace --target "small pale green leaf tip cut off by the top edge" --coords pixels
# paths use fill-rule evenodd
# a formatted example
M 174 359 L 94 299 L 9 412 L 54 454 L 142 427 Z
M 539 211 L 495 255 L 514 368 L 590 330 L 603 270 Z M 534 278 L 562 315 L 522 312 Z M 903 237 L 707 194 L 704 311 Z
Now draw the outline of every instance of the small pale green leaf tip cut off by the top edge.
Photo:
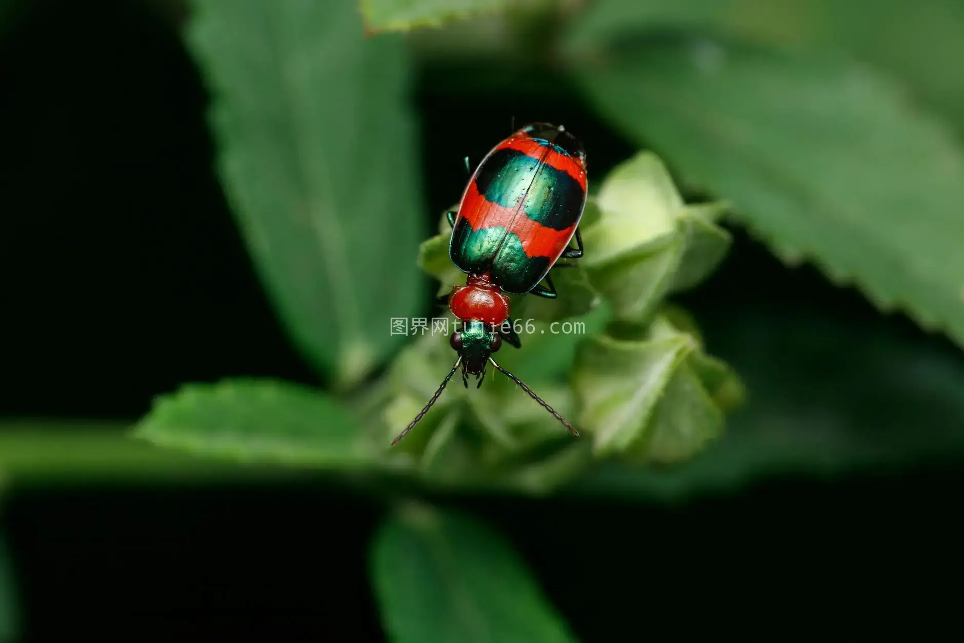
M 369 32 L 410 31 L 440 27 L 479 14 L 494 14 L 509 7 L 508 0 L 361 0 Z

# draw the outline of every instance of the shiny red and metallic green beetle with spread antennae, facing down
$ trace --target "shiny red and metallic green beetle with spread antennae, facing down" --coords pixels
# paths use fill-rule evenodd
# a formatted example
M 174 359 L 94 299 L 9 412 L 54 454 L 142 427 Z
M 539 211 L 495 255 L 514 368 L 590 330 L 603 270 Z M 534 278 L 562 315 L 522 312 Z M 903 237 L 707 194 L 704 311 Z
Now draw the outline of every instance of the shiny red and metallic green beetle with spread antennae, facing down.
M 555 298 L 549 270 L 559 259 L 582 256 L 578 225 L 585 205 L 586 154 L 564 127 L 524 126 L 486 154 L 462 194 L 459 209 L 448 212 L 452 226 L 448 254 L 469 275 L 465 286 L 456 286 L 439 299 L 459 320 L 449 338 L 459 357 L 432 399 L 392 445 L 425 416 L 460 366 L 468 388 L 469 375 L 478 380 L 476 386 L 482 385 L 490 363 L 570 432 L 579 434 L 519 377 L 499 366 L 492 353 L 503 340 L 522 348 L 509 318 L 506 294 Z M 574 237 L 576 247 L 571 248 Z

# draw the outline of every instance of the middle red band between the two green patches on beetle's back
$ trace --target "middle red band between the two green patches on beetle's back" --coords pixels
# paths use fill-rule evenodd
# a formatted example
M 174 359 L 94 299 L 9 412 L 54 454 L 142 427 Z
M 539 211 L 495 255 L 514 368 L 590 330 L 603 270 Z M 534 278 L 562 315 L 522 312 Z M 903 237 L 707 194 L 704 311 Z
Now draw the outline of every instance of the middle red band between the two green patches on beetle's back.
M 475 231 L 485 228 L 505 228 L 522 241 L 522 250 L 526 257 L 530 259 L 533 257 L 549 257 L 551 261 L 555 261 L 569 245 L 569 240 L 573 238 L 575 233 L 575 226 L 570 226 L 565 230 L 553 230 L 538 221 L 533 221 L 524 213 L 521 213 L 521 216 L 516 216 L 523 205 L 519 203 L 512 208 L 499 206 L 479 194 L 478 187 L 473 181 L 469 182 L 466 189 L 462 206 L 459 208 L 458 218 L 465 217 L 472 230 Z M 456 221 L 456 225 L 458 225 L 458 221 Z

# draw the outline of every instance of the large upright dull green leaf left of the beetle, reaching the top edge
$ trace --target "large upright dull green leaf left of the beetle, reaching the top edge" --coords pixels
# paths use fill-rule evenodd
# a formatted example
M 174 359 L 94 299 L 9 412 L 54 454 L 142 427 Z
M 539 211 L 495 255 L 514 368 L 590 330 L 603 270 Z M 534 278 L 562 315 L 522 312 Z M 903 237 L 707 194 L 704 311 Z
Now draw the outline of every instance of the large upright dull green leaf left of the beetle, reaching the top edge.
M 231 208 L 281 321 L 335 384 L 359 382 L 420 300 L 409 56 L 352 0 L 192 0 Z M 390 275 L 390 286 L 386 285 Z

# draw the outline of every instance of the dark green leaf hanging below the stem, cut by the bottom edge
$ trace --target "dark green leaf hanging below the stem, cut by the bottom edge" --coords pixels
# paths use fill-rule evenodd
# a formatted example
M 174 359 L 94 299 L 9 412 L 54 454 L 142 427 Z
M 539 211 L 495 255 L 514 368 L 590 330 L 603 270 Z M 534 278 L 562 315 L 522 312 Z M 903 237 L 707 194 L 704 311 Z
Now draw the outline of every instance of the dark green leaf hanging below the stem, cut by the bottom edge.
M 407 506 L 389 518 L 371 576 L 392 643 L 576 640 L 512 545 L 460 514 Z

